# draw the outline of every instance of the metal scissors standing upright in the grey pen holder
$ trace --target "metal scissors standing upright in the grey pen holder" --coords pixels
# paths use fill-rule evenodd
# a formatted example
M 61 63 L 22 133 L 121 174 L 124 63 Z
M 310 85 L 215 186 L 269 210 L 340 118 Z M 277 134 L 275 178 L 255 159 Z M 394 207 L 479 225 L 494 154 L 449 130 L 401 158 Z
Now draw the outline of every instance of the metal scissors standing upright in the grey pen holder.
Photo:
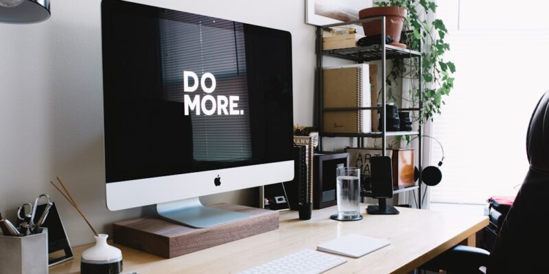
M 40 214 L 40 217 L 35 223 L 34 219 L 36 219 L 36 207 L 38 207 L 38 202 L 42 197 L 46 198 L 46 207 L 44 208 L 44 211 L 42 212 L 42 214 Z M 19 208 L 17 209 L 17 219 L 21 220 L 21 223 L 19 225 L 19 232 L 21 233 L 21 235 L 26 236 L 38 232 L 39 227 L 44 224 L 49 209 L 53 205 L 54 203 L 51 202 L 49 196 L 47 194 L 43 194 L 34 199 L 34 204 L 23 203 L 21 206 L 19 206 Z

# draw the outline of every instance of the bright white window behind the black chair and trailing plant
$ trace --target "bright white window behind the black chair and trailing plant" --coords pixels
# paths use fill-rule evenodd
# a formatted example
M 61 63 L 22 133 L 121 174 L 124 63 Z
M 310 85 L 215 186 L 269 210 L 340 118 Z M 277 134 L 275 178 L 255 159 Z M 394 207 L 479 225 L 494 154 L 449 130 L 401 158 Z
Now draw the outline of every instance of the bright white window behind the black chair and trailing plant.
M 549 4 L 438 5 L 437 17 L 449 29 L 446 58 L 456 64 L 456 80 L 442 115 L 434 118 L 432 134 L 443 144 L 445 160 L 431 201 L 483 204 L 493 195 L 515 195 L 528 171 L 530 115 L 549 90 L 549 27 L 542 14 Z M 433 144 L 437 163 L 441 150 Z

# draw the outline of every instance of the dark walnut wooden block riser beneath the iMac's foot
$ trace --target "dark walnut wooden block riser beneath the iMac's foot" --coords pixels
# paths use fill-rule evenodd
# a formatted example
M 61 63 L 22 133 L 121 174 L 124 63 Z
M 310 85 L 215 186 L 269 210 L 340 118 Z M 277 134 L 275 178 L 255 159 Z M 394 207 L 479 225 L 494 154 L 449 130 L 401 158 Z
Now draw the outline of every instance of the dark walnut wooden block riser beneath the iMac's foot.
M 174 258 L 279 228 L 278 211 L 228 203 L 216 203 L 209 206 L 244 212 L 252 216 L 248 219 L 207 228 L 187 227 L 159 218 L 122 221 L 114 224 L 114 240 L 117 244 L 126 247 L 164 258 Z

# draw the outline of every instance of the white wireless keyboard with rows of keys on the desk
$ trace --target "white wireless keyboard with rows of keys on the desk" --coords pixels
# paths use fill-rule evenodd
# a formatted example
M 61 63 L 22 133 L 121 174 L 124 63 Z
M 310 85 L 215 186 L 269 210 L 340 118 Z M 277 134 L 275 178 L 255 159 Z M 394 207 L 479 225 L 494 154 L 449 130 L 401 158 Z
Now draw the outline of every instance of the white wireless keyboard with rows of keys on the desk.
M 303 249 L 242 271 L 240 274 L 320 274 L 344 262 L 347 262 L 347 259 L 312 249 Z

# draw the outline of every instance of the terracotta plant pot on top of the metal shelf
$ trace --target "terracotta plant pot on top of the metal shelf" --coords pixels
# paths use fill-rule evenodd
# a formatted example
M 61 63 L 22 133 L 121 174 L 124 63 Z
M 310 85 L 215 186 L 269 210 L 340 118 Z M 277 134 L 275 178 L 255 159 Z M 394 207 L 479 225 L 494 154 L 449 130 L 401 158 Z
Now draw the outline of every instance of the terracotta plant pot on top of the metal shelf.
M 386 35 L 393 38 L 393 43 L 398 43 L 400 41 L 400 33 L 402 32 L 402 27 L 404 26 L 404 18 L 406 18 L 406 12 L 407 10 L 405 8 L 397 6 L 374 7 L 361 10 L 360 12 L 358 12 L 358 17 L 364 19 L 386 16 Z M 366 36 L 375 36 L 382 34 L 381 21 L 362 23 L 362 27 L 364 27 L 364 34 L 366 34 Z

